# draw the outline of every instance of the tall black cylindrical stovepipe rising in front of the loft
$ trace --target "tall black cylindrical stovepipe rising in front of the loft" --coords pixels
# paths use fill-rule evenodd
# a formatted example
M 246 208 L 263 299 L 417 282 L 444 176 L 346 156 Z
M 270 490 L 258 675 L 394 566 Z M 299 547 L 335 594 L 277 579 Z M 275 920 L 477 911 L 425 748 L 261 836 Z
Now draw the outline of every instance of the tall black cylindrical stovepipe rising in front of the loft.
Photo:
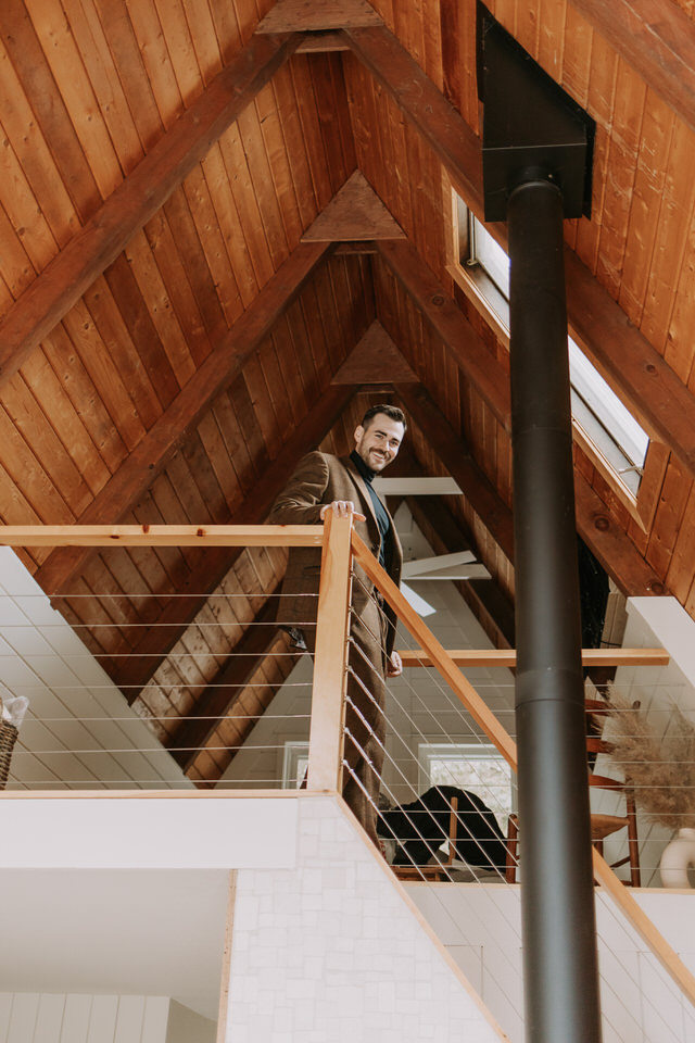
M 527 1039 L 598 1043 L 563 196 L 508 200 L 519 837 Z

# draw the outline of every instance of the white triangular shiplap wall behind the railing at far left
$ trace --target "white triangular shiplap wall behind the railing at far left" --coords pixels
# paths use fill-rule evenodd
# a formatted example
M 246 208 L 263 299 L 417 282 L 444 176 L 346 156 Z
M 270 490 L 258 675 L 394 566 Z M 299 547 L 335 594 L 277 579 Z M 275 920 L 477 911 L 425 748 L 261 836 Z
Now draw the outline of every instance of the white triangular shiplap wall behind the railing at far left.
M 191 789 L 168 752 L 0 546 L 0 695 L 27 695 L 9 789 Z

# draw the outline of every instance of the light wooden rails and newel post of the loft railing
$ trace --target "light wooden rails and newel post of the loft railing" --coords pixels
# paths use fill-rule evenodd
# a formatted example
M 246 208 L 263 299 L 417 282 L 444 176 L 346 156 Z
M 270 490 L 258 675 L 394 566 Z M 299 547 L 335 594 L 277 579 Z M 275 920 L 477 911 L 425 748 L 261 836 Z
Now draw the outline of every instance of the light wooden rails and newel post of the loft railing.
M 471 716 L 478 729 L 516 771 L 516 745 L 497 716 L 462 673 L 462 666 L 514 666 L 514 653 L 447 652 L 410 607 L 399 588 L 381 569 L 351 526 L 350 519 L 328 515 L 325 526 L 37 526 L 0 529 L 0 544 L 10 546 L 315 546 L 321 548 L 313 702 L 308 741 L 306 788 L 339 792 L 343 763 L 343 716 L 352 564 L 356 562 L 386 601 L 395 610 L 416 649 L 403 650 L 406 667 L 432 665 L 439 677 Z M 585 662 L 598 665 L 665 662 L 661 650 L 591 650 Z M 630 891 L 594 852 L 597 881 L 648 945 L 683 993 L 695 1003 L 695 979 L 644 915 Z

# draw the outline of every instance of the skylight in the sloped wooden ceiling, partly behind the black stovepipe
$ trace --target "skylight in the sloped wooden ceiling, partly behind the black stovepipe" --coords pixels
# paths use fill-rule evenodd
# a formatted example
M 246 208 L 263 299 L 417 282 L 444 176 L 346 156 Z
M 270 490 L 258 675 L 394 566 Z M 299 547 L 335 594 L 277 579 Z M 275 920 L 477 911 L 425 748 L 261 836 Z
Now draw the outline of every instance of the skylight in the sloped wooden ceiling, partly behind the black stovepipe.
M 466 214 L 467 236 L 459 238 L 460 260 L 478 292 L 509 328 L 509 259 L 485 227 Z M 649 439 L 598 370 L 569 338 L 572 420 L 603 456 L 628 492 L 636 499 Z

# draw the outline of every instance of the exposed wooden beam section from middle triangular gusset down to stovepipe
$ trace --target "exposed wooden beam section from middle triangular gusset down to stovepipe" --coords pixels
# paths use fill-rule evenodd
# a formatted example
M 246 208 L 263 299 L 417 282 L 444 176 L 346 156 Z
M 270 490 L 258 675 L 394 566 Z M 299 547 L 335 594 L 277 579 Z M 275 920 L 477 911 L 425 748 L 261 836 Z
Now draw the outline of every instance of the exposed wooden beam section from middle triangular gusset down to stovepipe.
M 508 374 L 407 239 L 382 240 L 377 247 L 462 372 L 508 430 L 511 426 Z

